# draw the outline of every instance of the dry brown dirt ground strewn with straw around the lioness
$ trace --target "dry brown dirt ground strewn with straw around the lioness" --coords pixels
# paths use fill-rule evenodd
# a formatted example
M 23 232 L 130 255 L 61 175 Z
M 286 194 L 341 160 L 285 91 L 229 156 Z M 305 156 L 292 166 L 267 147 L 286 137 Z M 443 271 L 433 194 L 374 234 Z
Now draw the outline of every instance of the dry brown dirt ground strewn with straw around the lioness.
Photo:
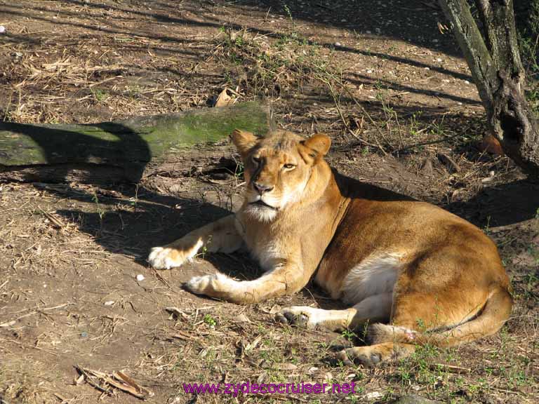
M 241 177 L 166 172 L 139 184 L 0 184 L 0 403 L 135 403 L 91 372 L 124 371 L 149 403 L 537 403 L 539 187 L 480 147 L 484 110 L 432 2 L 0 0 L 0 117 L 89 123 L 271 102 L 280 126 L 333 139 L 340 171 L 436 203 L 484 229 L 514 286 L 510 321 L 455 349 L 375 369 L 332 361 L 343 335 L 274 323 L 314 286 L 253 307 L 190 295 L 216 269 L 254 278 L 241 255 L 154 271 L 149 248 L 225 215 Z M 189 152 L 185 151 L 186 154 Z M 0 168 L 1 169 L 1 168 Z M 168 307 L 178 309 L 175 314 Z M 83 374 L 84 377 L 81 377 Z M 188 394 L 188 382 L 354 381 L 357 393 Z M 93 383 L 92 383 L 93 382 Z

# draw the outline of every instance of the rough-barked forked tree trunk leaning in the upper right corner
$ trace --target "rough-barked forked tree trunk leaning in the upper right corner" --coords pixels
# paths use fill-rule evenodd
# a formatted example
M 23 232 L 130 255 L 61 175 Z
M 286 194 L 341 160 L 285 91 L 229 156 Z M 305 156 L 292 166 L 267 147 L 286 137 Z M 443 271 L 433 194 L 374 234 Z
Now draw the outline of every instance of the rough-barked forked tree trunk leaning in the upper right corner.
M 524 95 L 524 68 L 512 0 L 475 0 L 482 31 L 466 0 L 439 0 L 465 55 L 488 125 L 515 163 L 539 178 L 539 124 Z

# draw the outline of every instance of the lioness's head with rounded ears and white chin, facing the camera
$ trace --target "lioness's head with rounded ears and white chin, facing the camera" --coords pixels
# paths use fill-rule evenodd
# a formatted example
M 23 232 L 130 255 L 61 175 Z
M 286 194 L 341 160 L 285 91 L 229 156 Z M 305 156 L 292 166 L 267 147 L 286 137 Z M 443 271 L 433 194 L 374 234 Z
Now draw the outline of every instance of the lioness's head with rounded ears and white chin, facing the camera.
M 244 212 L 264 222 L 305 196 L 313 168 L 324 161 L 331 145 L 326 135 L 304 139 L 282 130 L 262 138 L 234 130 L 232 141 L 245 166 Z

